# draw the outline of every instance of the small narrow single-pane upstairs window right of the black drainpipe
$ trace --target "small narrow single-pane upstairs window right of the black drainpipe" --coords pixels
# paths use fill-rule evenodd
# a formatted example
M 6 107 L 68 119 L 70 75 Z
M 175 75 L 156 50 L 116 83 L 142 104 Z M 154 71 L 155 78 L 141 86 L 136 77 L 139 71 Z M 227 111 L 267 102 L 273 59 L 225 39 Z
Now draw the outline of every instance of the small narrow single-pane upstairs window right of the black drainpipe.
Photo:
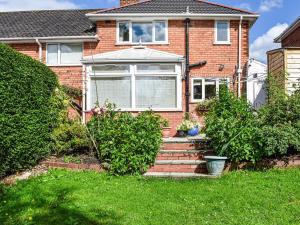
M 215 22 L 215 44 L 230 44 L 230 22 Z

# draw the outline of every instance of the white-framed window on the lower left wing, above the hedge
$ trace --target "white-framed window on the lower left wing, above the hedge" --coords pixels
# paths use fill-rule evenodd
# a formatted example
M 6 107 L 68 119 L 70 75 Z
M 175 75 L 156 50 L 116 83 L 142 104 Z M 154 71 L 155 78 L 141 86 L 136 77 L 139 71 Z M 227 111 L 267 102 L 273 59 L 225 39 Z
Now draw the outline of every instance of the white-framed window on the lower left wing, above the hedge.
M 48 44 L 47 65 L 80 65 L 82 59 L 82 43 Z

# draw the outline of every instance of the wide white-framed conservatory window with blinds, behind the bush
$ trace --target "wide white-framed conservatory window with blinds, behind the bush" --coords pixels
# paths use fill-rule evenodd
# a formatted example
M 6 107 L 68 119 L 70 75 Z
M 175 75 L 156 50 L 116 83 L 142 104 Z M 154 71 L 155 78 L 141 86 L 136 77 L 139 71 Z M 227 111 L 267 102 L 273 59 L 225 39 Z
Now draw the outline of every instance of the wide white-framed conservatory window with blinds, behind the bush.
M 106 64 L 91 68 L 90 109 L 105 101 L 128 111 L 181 109 L 180 65 Z

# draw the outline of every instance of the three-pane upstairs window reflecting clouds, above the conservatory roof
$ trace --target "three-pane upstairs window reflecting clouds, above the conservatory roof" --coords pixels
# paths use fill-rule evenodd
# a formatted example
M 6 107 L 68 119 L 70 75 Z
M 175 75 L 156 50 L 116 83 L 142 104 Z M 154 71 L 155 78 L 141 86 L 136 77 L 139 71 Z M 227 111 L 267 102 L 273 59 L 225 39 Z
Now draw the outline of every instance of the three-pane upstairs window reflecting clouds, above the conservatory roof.
M 167 43 L 167 22 L 118 22 L 118 44 L 164 44 Z

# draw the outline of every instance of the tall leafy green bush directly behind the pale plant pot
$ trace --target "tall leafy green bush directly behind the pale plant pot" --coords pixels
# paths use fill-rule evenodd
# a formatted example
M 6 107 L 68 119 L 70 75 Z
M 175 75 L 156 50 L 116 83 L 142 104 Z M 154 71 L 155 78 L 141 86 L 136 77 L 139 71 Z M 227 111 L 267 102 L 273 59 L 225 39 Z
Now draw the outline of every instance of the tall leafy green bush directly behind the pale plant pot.
M 220 90 L 206 116 L 206 134 L 218 155 L 233 162 L 253 161 L 260 158 L 254 134 L 255 116 L 245 99 L 237 98 L 227 88 Z

